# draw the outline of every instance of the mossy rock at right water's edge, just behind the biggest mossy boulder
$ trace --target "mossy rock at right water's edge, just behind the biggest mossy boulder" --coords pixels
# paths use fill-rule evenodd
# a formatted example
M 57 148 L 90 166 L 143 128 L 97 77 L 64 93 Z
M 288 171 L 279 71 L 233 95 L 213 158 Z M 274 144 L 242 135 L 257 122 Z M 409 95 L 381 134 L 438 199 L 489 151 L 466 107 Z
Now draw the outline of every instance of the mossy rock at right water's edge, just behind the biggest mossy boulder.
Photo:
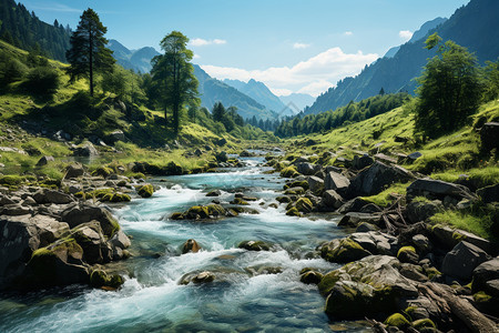
M 322 258 L 336 263 L 348 263 L 370 255 L 370 252 L 349 238 L 327 242 L 319 250 Z

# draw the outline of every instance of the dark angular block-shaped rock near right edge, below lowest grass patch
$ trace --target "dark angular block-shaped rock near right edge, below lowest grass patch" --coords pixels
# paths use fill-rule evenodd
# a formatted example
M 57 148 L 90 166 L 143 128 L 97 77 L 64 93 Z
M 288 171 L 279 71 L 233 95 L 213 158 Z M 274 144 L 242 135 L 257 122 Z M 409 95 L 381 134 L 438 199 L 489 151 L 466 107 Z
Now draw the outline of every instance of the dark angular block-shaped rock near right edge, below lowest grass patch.
M 441 272 L 446 275 L 471 280 L 473 270 L 488 260 L 487 253 L 468 242 L 460 242 L 446 254 L 441 264 Z

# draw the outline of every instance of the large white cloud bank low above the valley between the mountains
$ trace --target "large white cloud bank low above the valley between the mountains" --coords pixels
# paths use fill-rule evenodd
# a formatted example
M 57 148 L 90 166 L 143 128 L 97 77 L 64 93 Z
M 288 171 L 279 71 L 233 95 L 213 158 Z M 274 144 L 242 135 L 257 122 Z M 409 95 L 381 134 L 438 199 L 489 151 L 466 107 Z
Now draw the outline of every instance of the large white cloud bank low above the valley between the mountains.
M 366 64 L 378 58 L 376 53 L 345 53 L 340 48 L 328 49 L 293 67 L 272 67 L 265 70 L 202 65 L 217 79 L 262 81 L 275 92 L 301 91 L 317 95 L 338 80 L 357 74 Z

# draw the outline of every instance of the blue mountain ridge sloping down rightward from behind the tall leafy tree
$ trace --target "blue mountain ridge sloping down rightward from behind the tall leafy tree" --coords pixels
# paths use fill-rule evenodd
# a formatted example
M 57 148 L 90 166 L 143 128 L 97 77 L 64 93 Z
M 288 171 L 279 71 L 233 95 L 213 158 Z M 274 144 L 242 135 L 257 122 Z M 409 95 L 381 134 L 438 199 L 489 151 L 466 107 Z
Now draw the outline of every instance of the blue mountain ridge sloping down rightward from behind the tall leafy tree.
M 198 91 L 202 107 L 212 110 L 216 102 L 222 102 L 225 108 L 236 107 L 237 113 L 244 119 L 251 119 L 253 115 L 255 115 L 257 120 L 276 118 L 276 114 L 268 111 L 265 105 L 258 103 L 234 87 L 210 77 L 197 64 L 194 64 L 194 74 L 196 75 L 197 81 L 200 81 Z

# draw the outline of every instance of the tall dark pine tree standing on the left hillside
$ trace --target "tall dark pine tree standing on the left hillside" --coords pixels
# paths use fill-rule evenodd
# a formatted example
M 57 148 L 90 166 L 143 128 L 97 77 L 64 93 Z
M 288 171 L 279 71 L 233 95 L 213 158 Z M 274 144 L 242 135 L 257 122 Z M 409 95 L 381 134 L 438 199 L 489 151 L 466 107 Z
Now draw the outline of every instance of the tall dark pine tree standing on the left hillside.
M 88 77 L 90 80 L 90 94 L 93 95 L 94 73 L 112 71 L 114 58 L 112 51 L 105 47 L 108 40 L 104 33 L 108 32 L 96 12 L 86 9 L 80 17 L 80 23 L 71 36 L 71 49 L 65 57 L 71 67 L 68 73 L 74 80 L 79 77 Z

